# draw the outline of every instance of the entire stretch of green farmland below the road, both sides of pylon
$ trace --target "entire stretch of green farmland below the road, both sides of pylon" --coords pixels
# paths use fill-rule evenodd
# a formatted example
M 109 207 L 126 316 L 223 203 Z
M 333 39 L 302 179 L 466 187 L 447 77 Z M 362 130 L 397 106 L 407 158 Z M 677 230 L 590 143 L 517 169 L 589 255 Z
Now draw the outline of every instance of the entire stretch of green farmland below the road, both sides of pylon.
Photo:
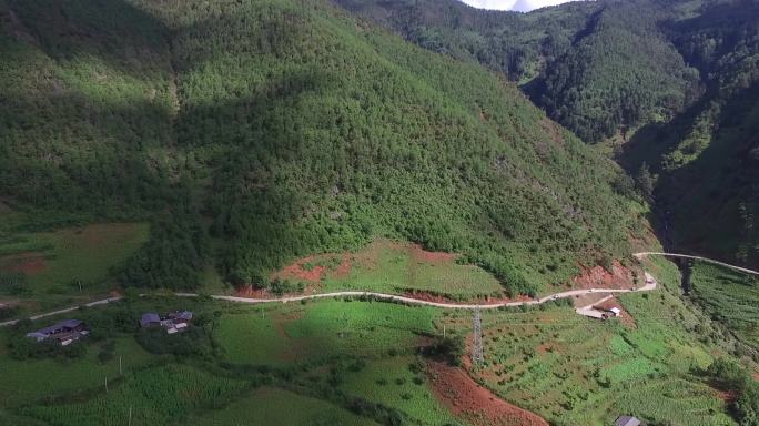
M 465 357 L 464 365 L 496 395 L 556 425 L 601 426 L 620 414 L 651 424 L 735 425 L 704 374 L 729 356 L 728 337 L 676 295 L 677 268 L 656 261 L 646 270 L 661 287 L 619 297 L 632 322 L 580 317 L 565 303 L 483 311 L 485 363 L 470 366 Z M 193 343 L 196 351 L 150 353 L 135 338 L 140 332 L 122 324 L 148 310 L 178 308 L 193 310 L 208 336 Z M 102 362 L 104 343 L 82 342 L 81 358 L 22 366 L 4 347 L 12 334 L 0 333 L 0 419 L 118 425 L 132 407 L 139 424 L 153 425 L 264 425 L 277 415 L 294 425 L 488 424 L 453 412 L 431 378 L 433 358 L 419 353 L 444 329 L 470 344 L 470 312 L 347 298 L 237 305 L 142 297 L 81 315 L 102 326 L 112 318 L 105 342 L 114 342 L 115 356 Z M 286 409 L 293 406 L 303 409 Z

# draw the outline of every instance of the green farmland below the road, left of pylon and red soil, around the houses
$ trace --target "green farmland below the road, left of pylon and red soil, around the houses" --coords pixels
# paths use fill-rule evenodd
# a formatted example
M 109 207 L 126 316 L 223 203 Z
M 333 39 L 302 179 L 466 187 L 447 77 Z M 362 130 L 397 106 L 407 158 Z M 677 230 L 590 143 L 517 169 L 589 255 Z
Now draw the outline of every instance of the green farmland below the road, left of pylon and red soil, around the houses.
M 141 312 L 178 308 L 195 312 L 196 327 L 212 338 L 208 351 L 143 348 L 141 332 L 130 324 Z M 75 343 L 85 347 L 75 358 L 14 359 L 8 344 L 22 334 L 0 331 L 0 419 L 128 425 L 131 408 L 133 425 L 267 425 L 274 418 L 293 425 L 455 424 L 415 355 L 434 335 L 438 314 L 347 300 L 260 307 L 128 298 L 72 314 L 93 329 L 108 328 L 105 337 Z M 109 342 L 113 354 L 102 361 L 99 351 Z M 382 377 L 388 382 L 378 383 Z

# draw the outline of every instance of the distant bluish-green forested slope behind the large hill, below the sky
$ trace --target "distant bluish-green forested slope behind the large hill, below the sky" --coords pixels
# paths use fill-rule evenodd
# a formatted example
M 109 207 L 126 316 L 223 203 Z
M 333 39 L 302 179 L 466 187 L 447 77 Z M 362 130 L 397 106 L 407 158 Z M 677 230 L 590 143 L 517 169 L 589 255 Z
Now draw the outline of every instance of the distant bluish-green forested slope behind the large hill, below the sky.
M 563 4 L 530 13 L 442 2 L 335 0 L 427 49 L 500 71 L 587 142 L 671 118 L 698 72 L 659 22 L 681 14 L 650 0 Z

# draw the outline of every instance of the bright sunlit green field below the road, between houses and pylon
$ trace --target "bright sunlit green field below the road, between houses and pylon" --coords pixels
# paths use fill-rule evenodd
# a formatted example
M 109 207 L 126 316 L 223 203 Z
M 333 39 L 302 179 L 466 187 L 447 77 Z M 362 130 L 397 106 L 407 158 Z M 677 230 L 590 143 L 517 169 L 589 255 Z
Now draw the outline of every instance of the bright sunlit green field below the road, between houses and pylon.
M 240 307 L 224 315 L 215 337 L 241 364 L 301 363 L 341 355 L 411 351 L 433 332 L 436 311 L 387 303 L 321 301 Z

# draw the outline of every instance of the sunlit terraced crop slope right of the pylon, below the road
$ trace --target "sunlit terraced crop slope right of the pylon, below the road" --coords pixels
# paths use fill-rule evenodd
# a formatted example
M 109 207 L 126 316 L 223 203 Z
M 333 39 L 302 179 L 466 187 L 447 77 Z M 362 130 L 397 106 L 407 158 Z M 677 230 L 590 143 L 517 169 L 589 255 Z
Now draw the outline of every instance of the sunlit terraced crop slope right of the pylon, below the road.
M 569 308 L 484 313 L 486 362 L 475 376 L 557 425 L 606 425 L 620 414 L 651 424 L 733 425 L 718 393 L 695 373 L 726 354 L 718 333 L 670 293 L 679 282 L 674 265 L 647 270 L 668 282 L 620 296 L 635 328 Z M 446 321 L 470 329 L 468 317 Z

